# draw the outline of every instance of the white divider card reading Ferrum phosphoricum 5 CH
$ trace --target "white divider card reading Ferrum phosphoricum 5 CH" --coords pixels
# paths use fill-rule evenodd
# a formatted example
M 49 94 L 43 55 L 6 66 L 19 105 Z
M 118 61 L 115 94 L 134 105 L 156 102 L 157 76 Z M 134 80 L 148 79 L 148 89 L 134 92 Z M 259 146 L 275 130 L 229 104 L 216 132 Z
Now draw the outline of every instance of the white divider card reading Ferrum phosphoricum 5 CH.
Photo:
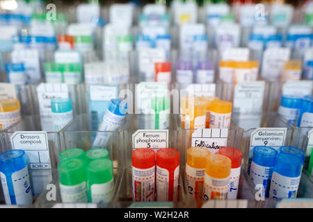
M 137 130 L 133 134 L 133 148 L 151 148 L 155 152 L 168 147 L 168 130 Z

